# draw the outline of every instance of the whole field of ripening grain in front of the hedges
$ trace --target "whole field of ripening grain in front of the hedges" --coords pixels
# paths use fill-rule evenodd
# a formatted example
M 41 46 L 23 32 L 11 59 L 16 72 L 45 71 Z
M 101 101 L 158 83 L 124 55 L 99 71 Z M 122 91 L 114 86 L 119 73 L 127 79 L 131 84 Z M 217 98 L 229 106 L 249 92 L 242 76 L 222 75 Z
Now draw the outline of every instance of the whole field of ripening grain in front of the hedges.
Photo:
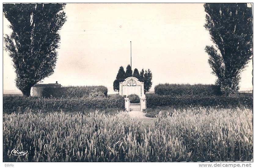
M 126 112 L 3 114 L 3 161 L 250 161 L 252 116 L 246 108 L 174 109 L 150 129 Z

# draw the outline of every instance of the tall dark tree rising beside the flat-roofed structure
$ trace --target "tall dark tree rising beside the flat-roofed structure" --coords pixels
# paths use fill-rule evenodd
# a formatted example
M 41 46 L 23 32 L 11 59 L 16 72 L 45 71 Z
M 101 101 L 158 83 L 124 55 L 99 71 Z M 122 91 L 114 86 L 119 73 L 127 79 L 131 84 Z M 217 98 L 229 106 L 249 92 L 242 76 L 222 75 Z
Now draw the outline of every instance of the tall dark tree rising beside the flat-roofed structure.
M 12 58 L 16 86 L 24 96 L 37 82 L 53 74 L 60 35 L 66 21 L 65 4 L 4 4 L 11 35 L 4 37 Z

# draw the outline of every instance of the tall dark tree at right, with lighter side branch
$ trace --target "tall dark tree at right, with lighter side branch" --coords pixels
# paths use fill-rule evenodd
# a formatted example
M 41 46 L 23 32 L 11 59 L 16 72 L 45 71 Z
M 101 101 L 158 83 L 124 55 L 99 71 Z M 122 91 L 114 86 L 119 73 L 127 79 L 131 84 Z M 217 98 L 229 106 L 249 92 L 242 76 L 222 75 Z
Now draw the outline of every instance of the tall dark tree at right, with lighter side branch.
M 206 3 L 205 28 L 215 46 L 206 46 L 208 63 L 223 94 L 239 89 L 240 73 L 252 57 L 252 8 L 246 3 Z

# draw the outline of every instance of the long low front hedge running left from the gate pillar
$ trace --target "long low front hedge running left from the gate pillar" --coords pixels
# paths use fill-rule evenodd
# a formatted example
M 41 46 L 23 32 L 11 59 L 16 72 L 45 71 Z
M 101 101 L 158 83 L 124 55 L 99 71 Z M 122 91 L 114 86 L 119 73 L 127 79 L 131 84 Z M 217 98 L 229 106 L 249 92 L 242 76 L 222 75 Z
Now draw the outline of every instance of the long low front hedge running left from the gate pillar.
M 47 99 L 47 98 L 23 98 L 3 97 L 3 111 L 17 112 L 24 110 L 51 112 L 51 111 L 75 111 L 97 108 L 124 108 L 124 98 L 94 98 L 94 99 Z

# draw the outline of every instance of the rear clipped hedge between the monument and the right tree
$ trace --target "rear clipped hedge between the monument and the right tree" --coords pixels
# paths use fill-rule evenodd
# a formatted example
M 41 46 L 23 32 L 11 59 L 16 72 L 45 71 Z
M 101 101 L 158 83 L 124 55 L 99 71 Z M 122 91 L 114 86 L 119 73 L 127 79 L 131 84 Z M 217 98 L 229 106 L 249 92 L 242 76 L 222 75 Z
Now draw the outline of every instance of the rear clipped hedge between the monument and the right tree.
M 221 95 L 221 89 L 217 85 L 165 83 L 156 85 L 155 93 L 161 96 L 218 96 Z

